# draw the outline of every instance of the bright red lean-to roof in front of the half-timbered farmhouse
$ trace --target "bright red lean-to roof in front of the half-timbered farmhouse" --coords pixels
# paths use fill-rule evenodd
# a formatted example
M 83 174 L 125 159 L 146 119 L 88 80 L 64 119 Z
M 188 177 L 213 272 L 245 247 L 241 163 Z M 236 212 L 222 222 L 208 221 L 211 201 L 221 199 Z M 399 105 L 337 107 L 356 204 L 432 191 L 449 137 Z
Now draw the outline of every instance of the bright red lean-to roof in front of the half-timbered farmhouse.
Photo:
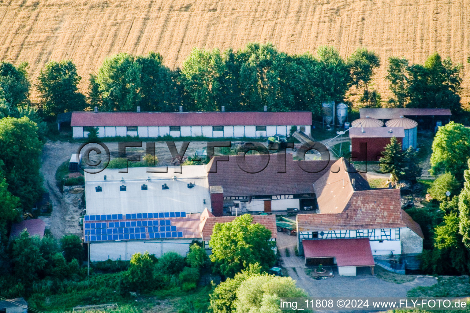
M 302 240 L 305 258 L 335 257 L 338 266 L 371 266 L 368 238 Z

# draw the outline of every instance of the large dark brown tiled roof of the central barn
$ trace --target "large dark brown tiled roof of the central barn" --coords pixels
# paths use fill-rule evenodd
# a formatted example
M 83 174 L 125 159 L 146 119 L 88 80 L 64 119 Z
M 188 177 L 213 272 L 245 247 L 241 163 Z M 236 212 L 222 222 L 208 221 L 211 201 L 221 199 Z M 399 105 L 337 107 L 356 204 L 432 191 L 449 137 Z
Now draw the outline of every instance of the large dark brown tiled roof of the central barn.
M 216 156 L 207 164 L 209 185 L 223 186 L 224 197 L 313 193 L 313 183 L 328 172 L 334 163 L 334 160 L 296 161 L 293 160 L 292 154 L 287 153 L 286 173 L 278 173 L 284 168 L 283 161 L 278 159 L 278 155 L 270 155 L 269 162 L 263 170 L 261 169 L 266 164 L 263 158 L 266 154 L 246 155 L 246 164 L 253 169 L 250 171 L 261 170 L 254 174 L 241 169 L 245 168 L 243 164 L 239 166 L 238 163 L 243 162 L 243 156 L 231 155 L 228 162 L 219 161 L 221 157 Z M 240 158 L 239 162 L 237 158 Z M 316 173 L 308 173 L 299 165 Z M 215 171 L 216 168 L 217 172 L 212 173 L 211 171 Z

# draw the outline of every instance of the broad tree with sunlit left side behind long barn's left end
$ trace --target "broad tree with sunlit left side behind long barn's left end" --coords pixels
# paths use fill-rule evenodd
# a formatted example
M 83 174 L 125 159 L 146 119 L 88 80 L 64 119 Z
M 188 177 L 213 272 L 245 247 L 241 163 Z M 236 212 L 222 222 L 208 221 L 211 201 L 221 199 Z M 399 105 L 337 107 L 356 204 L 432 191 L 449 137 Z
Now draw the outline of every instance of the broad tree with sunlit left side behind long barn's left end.
M 95 78 L 105 111 L 135 111 L 142 99 L 142 65 L 133 55 L 118 53 L 103 61 Z

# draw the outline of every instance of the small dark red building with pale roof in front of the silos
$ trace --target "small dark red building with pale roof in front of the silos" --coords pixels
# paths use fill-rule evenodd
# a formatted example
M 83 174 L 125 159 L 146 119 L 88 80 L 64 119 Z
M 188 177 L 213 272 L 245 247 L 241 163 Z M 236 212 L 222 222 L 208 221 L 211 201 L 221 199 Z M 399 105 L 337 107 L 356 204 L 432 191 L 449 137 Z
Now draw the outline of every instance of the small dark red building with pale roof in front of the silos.
M 377 161 L 382 156 L 391 137 L 397 137 L 401 144 L 405 131 L 403 127 L 351 128 L 351 158 L 354 161 Z

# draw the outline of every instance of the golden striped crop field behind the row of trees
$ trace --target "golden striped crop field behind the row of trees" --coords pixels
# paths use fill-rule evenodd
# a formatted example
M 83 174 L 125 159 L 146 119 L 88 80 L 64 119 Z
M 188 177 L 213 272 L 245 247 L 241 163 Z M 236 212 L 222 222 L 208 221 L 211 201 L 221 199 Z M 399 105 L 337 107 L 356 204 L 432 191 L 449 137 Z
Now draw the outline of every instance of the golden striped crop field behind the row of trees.
M 28 61 L 35 77 L 49 60 L 73 59 L 84 78 L 113 53 L 162 53 L 170 68 L 194 46 L 224 50 L 273 42 L 288 53 L 366 46 L 382 58 L 423 62 L 438 51 L 470 55 L 470 0 L 0 0 L 0 61 Z M 462 102 L 469 101 L 464 64 Z

